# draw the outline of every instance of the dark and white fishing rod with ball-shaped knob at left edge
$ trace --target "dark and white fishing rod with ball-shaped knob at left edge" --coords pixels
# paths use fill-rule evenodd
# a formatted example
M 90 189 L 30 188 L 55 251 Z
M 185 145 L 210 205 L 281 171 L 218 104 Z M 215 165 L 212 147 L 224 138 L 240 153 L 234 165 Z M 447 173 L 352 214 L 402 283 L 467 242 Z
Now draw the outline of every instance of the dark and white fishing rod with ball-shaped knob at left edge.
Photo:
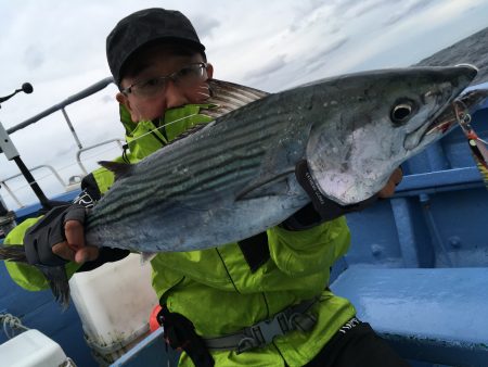
M 12 97 L 14 97 L 18 92 L 25 92 L 26 94 L 30 94 L 34 91 L 33 86 L 30 83 L 24 83 L 20 89 L 16 89 L 13 93 L 0 97 L 0 102 L 4 102 Z M 0 105 L 1 109 L 1 105 Z M 24 161 L 21 159 L 21 154 L 18 154 L 17 149 L 15 148 L 13 141 L 10 139 L 10 136 L 8 131 L 3 128 L 3 125 L 0 122 L 0 153 L 3 152 L 9 161 L 14 161 L 17 165 L 18 169 L 21 170 L 22 175 L 25 177 L 27 182 L 29 184 L 30 188 L 33 189 L 36 197 L 39 199 L 39 202 L 41 203 L 42 207 L 44 210 L 50 210 L 53 207 L 53 204 L 50 202 L 50 200 L 46 197 L 46 194 L 42 192 L 39 185 L 36 182 L 36 179 L 34 178 L 30 170 L 25 165 Z

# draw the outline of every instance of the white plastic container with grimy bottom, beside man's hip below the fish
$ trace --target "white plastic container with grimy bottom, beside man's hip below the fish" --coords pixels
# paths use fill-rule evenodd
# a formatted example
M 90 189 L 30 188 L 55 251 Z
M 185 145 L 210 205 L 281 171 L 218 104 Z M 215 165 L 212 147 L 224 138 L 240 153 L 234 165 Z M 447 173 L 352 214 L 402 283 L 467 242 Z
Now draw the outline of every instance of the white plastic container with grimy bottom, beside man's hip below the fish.
M 110 365 L 149 334 L 149 317 L 158 300 L 151 265 L 140 255 L 107 263 L 69 280 L 88 345 L 101 365 Z

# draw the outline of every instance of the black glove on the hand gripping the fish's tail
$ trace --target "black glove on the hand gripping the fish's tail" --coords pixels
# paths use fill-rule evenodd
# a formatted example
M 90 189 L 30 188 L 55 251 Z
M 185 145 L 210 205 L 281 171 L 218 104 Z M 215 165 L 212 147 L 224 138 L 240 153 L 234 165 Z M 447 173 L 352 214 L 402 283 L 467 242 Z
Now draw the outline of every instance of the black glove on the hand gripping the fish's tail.
M 79 204 L 56 206 L 30 227 L 24 237 L 27 261 L 31 265 L 60 266 L 66 260 L 56 256 L 52 246 L 66 240 L 64 225 L 67 220 L 85 223 L 86 210 Z

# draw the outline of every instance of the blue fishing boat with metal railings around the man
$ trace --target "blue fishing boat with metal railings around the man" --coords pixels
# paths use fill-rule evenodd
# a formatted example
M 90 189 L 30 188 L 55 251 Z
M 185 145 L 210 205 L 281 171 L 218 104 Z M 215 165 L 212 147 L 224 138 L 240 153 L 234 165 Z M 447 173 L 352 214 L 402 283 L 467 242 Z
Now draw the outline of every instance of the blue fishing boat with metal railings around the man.
M 111 78 L 100 80 L 4 130 L 5 139 L 23 128 L 34 131 L 47 116 L 62 113 L 76 140 L 65 107 L 111 84 Z M 488 88 L 488 83 L 471 88 Z M 486 143 L 488 101 L 471 113 L 471 126 Z M 114 138 L 100 145 L 108 143 L 124 144 Z M 79 176 L 87 174 L 81 153 L 91 148 L 75 152 Z M 2 149 L 5 154 L 14 150 L 5 143 Z M 66 188 L 50 199 L 72 201 L 79 179 L 65 182 L 49 169 Z M 404 178 L 391 199 L 347 215 L 352 244 L 332 268 L 330 287 L 349 299 L 358 317 L 412 366 L 487 366 L 488 240 L 483 233 L 488 191 L 464 131 L 457 128 L 402 169 Z M 30 172 L 24 174 L 34 181 Z M 0 194 L 17 204 L 8 208 L 0 197 L 1 238 L 36 216 L 46 200 L 34 185 L 39 202 L 24 204 L 10 189 L 11 179 L 0 175 Z M 157 304 L 150 284 L 149 266 L 132 254 L 76 274 L 73 302 L 63 312 L 51 291 L 22 289 L 0 263 L 0 366 L 176 366 L 178 353 L 165 346 L 163 329 L 150 330 Z

